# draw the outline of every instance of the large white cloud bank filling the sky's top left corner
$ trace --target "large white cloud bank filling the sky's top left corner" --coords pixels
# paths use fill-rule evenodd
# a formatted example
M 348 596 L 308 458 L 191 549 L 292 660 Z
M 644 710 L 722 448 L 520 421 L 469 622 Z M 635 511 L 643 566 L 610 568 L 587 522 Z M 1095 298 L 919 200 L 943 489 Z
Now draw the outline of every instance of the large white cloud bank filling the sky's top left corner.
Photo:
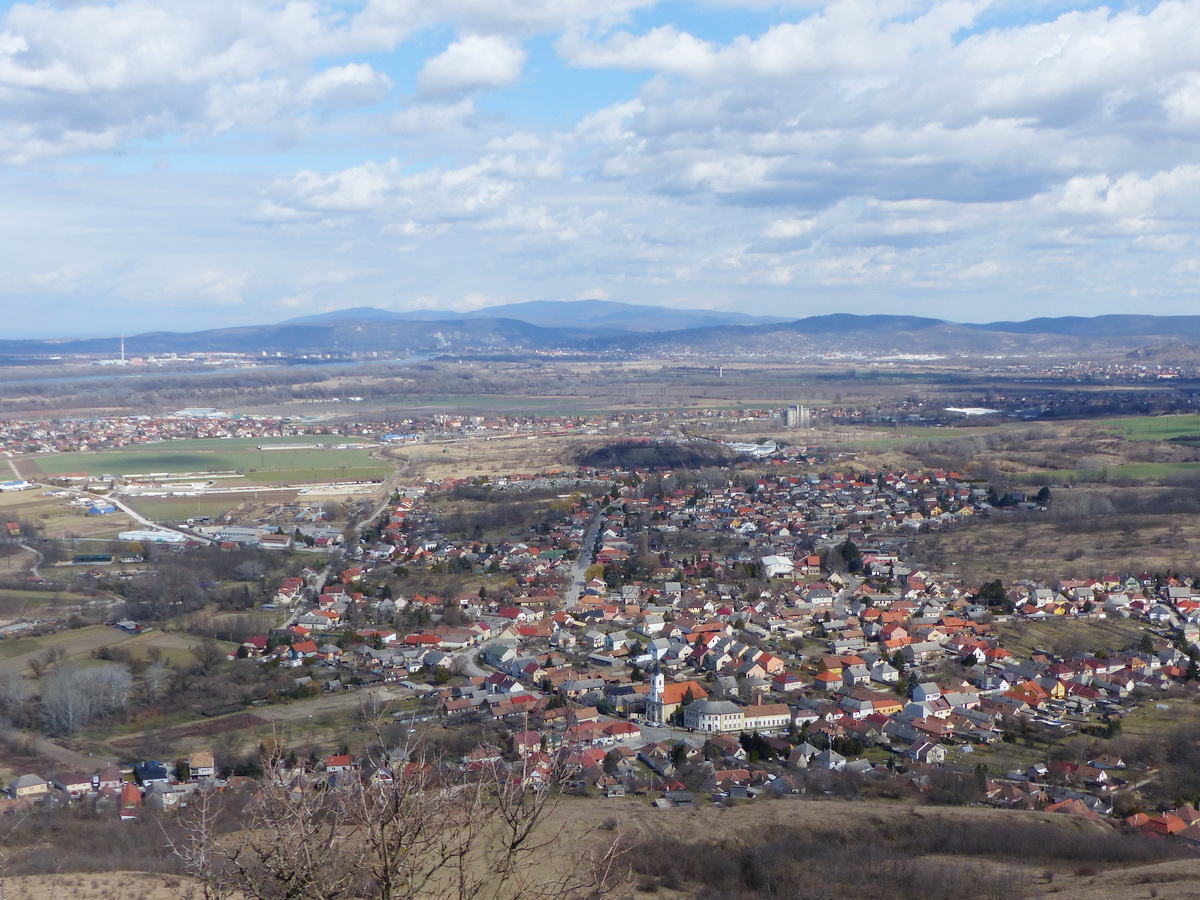
M 299 0 L 16 4 L 0 28 L 0 118 L 16 131 L 0 152 L 10 162 L 269 128 L 377 103 L 390 88 L 365 62 L 323 67 L 352 41 L 337 13 Z

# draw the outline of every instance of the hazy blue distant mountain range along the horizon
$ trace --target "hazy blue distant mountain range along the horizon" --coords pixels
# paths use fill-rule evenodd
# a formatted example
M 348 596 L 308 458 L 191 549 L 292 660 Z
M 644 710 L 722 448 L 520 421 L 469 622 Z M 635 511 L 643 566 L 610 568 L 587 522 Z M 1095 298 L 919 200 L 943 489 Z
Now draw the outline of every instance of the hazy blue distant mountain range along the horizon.
M 786 320 L 710 310 L 674 310 L 607 300 L 533 301 L 469 313 L 391 312 L 372 307 L 305 316 L 275 325 L 190 334 L 156 331 L 125 338 L 128 355 L 234 353 L 510 353 L 521 350 L 628 350 L 655 354 L 755 354 L 794 358 L 812 353 L 1121 355 L 1153 347 L 1200 343 L 1200 316 L 1097 316 L 960 324 L 916 316 L 835 313 Z M 0 341 L 0 356 L 92 354 L 114 356 L 116 337 Z M 1182 354 L 1190 358 L 1194 348 Z

